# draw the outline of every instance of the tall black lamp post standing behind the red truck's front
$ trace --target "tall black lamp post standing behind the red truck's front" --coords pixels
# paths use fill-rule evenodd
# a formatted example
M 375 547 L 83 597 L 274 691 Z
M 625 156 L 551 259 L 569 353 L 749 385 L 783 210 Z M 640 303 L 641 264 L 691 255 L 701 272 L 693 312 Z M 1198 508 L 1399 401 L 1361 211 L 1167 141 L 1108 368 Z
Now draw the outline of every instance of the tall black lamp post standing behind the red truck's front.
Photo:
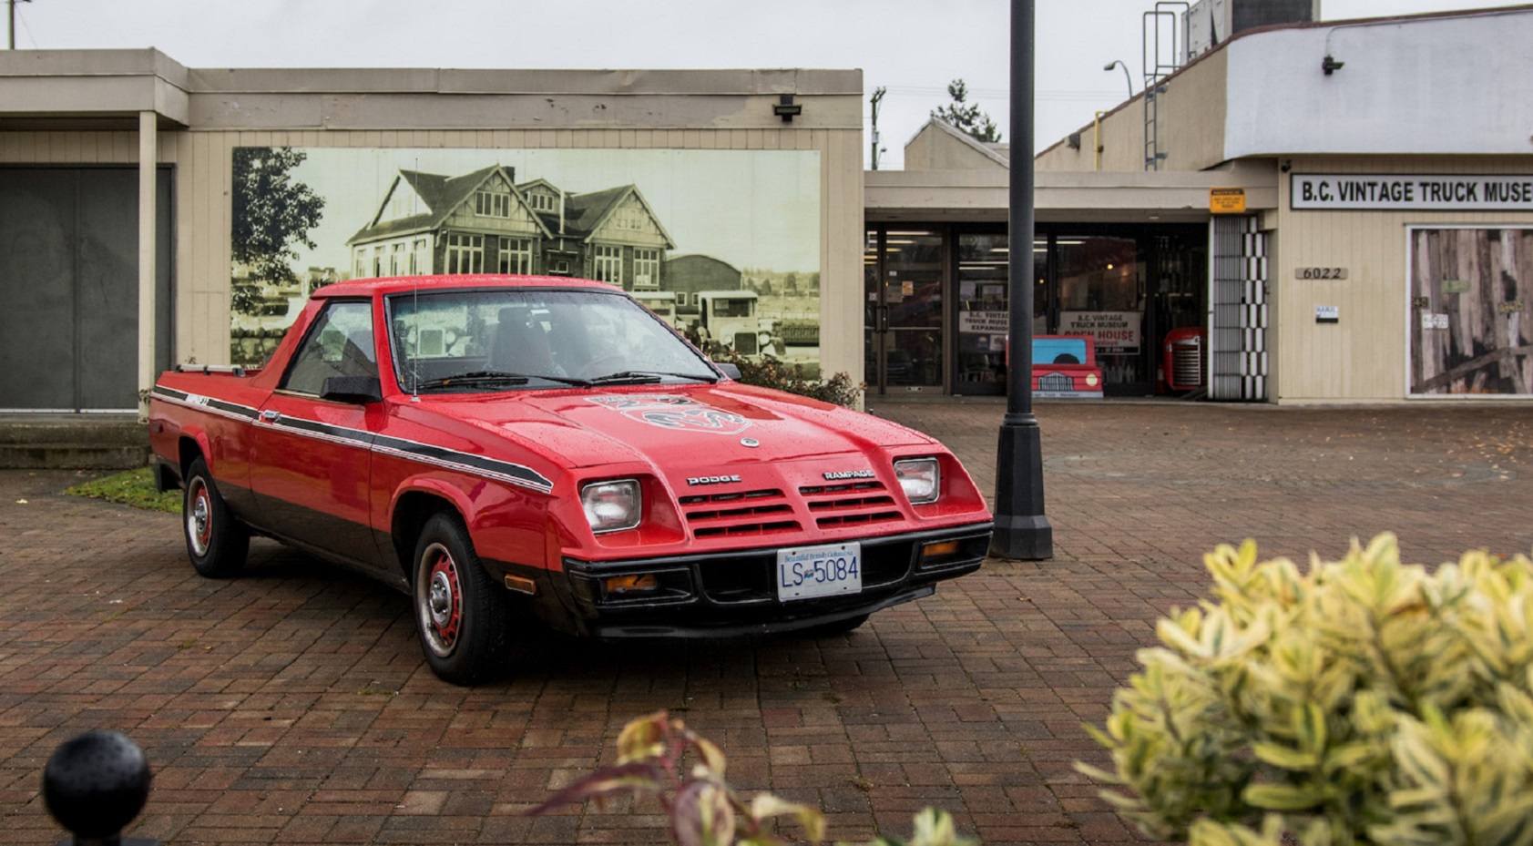
M 1033 417 L 1033 0 L 1012 0 L 1010 362 L 995 467 L 990 555 L 1053 558 L 1044 458 Z

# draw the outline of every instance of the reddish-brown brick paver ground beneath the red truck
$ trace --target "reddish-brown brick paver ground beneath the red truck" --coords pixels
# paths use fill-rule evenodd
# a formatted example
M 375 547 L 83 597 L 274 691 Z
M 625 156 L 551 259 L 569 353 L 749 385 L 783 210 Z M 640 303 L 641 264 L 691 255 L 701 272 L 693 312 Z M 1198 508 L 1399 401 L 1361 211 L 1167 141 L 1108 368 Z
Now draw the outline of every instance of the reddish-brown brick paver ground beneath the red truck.
M 987 494 L 1004 406 L 871 403 L 952 446 Z M 0 814 L 57 843 L 48 756 L 89 728 L 156 771 L 129 829 L 167 843 L 658 843 L 653 805 L 526 818 L 670 710 L 745 792 L 822 806 L 831 837 L 935 805 L 987 844 L 1131 841 L 1072 769 L 1081 730 L 1202 595 L 1200 556 L 1335 556 L 1393 530 L 1412 561 L 1533 549 L 1533 408 L 1039 405 L 1055 558 L 987 561 L 839 638 L 553 641 L 475 690 L 425 668 L 403 596 L 258 541 L 207 581 L 178 521 L 0 472 Z

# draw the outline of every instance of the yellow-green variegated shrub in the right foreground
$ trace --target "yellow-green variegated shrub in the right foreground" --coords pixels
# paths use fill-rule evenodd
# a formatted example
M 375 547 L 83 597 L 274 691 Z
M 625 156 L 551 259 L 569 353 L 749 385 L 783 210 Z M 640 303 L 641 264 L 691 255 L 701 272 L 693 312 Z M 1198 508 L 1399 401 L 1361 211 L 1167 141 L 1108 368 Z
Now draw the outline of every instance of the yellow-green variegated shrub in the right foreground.
M 1533 561 L 1403 566 L 1393 535 L 1308 573 L 1203 556 L 1113 699 L 1125 818 L 1197 844 L 1533 843 Z

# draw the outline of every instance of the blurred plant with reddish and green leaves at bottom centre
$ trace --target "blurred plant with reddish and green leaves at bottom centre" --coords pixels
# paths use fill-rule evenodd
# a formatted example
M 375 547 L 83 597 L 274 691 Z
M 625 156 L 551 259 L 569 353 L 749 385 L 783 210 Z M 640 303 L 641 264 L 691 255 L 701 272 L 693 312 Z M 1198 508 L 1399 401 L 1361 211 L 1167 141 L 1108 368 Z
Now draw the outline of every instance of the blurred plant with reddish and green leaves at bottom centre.
M 688 749 L 698 760 L 684 769 Z M 659 711 L 622 728 L 616 765 L 575 782 L 527 814 L 546 814 L 592 798 L 599 803 L 612 795 L 653 795 L 670 821 L 671 843 L 679 846 L 788 843 L 771 831 L 774 817 L 797 820 L 811 843 L 825 840 L 825 815 L 819 809 L 771 794 L 757 794 L 747 803 L 724 780 L 725 765 L 724 753 L 713 742 Z M 915 815 L 915 835 L 909 841 L 878 837 L 868 846 L 972 844 L 975 841 L 958 837 L 952 817 L 927 808 Z

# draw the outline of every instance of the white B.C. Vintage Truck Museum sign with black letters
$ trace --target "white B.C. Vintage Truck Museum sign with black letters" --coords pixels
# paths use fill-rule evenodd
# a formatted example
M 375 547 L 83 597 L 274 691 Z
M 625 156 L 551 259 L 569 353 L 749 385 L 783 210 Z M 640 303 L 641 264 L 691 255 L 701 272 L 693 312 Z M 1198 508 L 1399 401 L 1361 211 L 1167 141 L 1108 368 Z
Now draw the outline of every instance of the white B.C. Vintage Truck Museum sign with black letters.
M 1294 173 L 1294 210 L 1533 212 L 1533 175 Z

